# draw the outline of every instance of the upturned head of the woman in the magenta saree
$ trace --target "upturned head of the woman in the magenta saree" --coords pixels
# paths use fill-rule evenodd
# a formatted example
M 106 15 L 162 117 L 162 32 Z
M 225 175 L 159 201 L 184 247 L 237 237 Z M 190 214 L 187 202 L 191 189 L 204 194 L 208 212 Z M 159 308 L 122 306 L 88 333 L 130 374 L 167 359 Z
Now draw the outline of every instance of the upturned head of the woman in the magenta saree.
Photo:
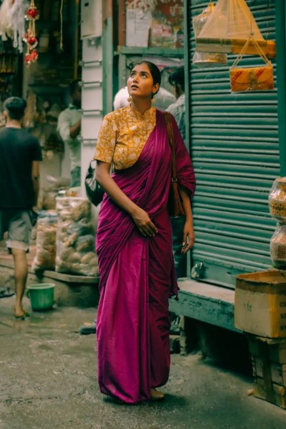
M 159 84 L 153 83 L 153 77 L 147 64 L 138 64 L 130 72 L 127 81 L 131 97 L 150 97 L 159 89 Z

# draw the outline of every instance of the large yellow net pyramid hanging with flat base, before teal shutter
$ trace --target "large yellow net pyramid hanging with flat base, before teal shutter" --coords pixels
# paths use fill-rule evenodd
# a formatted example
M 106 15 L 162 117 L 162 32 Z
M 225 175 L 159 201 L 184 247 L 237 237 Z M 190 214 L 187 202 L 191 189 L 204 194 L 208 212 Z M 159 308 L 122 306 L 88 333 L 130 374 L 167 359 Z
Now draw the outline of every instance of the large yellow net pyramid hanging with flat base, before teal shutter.
M 264 55 L 275 58 L 275 42 L 264 40 L 245 0 L 218 0 L 214 12 L 196 37 L 196 50 L 239 54 L 250 35 Z M 256 46 L 250 43 L 244 54 L 255 55 L 256 52 Z

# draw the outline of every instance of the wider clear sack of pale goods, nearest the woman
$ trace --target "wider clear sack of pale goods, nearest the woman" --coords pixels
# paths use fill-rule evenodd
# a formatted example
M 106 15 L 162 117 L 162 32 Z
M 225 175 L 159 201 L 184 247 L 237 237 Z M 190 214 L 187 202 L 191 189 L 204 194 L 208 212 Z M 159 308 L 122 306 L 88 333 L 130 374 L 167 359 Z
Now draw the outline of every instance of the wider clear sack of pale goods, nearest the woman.
M 91 203 L 85 198 L 57 197 L 56 271 L 95 277 L 95 222 Z

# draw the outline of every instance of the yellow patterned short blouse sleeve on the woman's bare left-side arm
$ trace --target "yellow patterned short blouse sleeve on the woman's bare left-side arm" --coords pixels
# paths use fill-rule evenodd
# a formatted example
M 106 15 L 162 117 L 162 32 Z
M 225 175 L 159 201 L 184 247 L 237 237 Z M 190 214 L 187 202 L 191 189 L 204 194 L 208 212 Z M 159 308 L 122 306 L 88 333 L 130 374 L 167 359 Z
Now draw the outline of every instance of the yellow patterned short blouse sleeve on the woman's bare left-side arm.
M 117 127 L 114 119 L 110 118 L 110 115 L 104 116 L 98 134 L 94 160 L 112 163 L 116 136 Z

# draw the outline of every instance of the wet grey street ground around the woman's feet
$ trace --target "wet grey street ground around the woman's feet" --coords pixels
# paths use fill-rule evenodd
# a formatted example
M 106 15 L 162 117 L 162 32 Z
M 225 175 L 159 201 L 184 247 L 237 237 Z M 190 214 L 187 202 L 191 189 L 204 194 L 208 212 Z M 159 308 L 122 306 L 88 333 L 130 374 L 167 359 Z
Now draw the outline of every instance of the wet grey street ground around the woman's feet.
M 286 412 L 247 396 L 251 380 L 172 356 L 165 403 L 115 404 L 96 379 L 94 336 L 74 332 L 93 310 L 61 308 L 11 317 L 0 299 L 0 429 L 285 429 Z

